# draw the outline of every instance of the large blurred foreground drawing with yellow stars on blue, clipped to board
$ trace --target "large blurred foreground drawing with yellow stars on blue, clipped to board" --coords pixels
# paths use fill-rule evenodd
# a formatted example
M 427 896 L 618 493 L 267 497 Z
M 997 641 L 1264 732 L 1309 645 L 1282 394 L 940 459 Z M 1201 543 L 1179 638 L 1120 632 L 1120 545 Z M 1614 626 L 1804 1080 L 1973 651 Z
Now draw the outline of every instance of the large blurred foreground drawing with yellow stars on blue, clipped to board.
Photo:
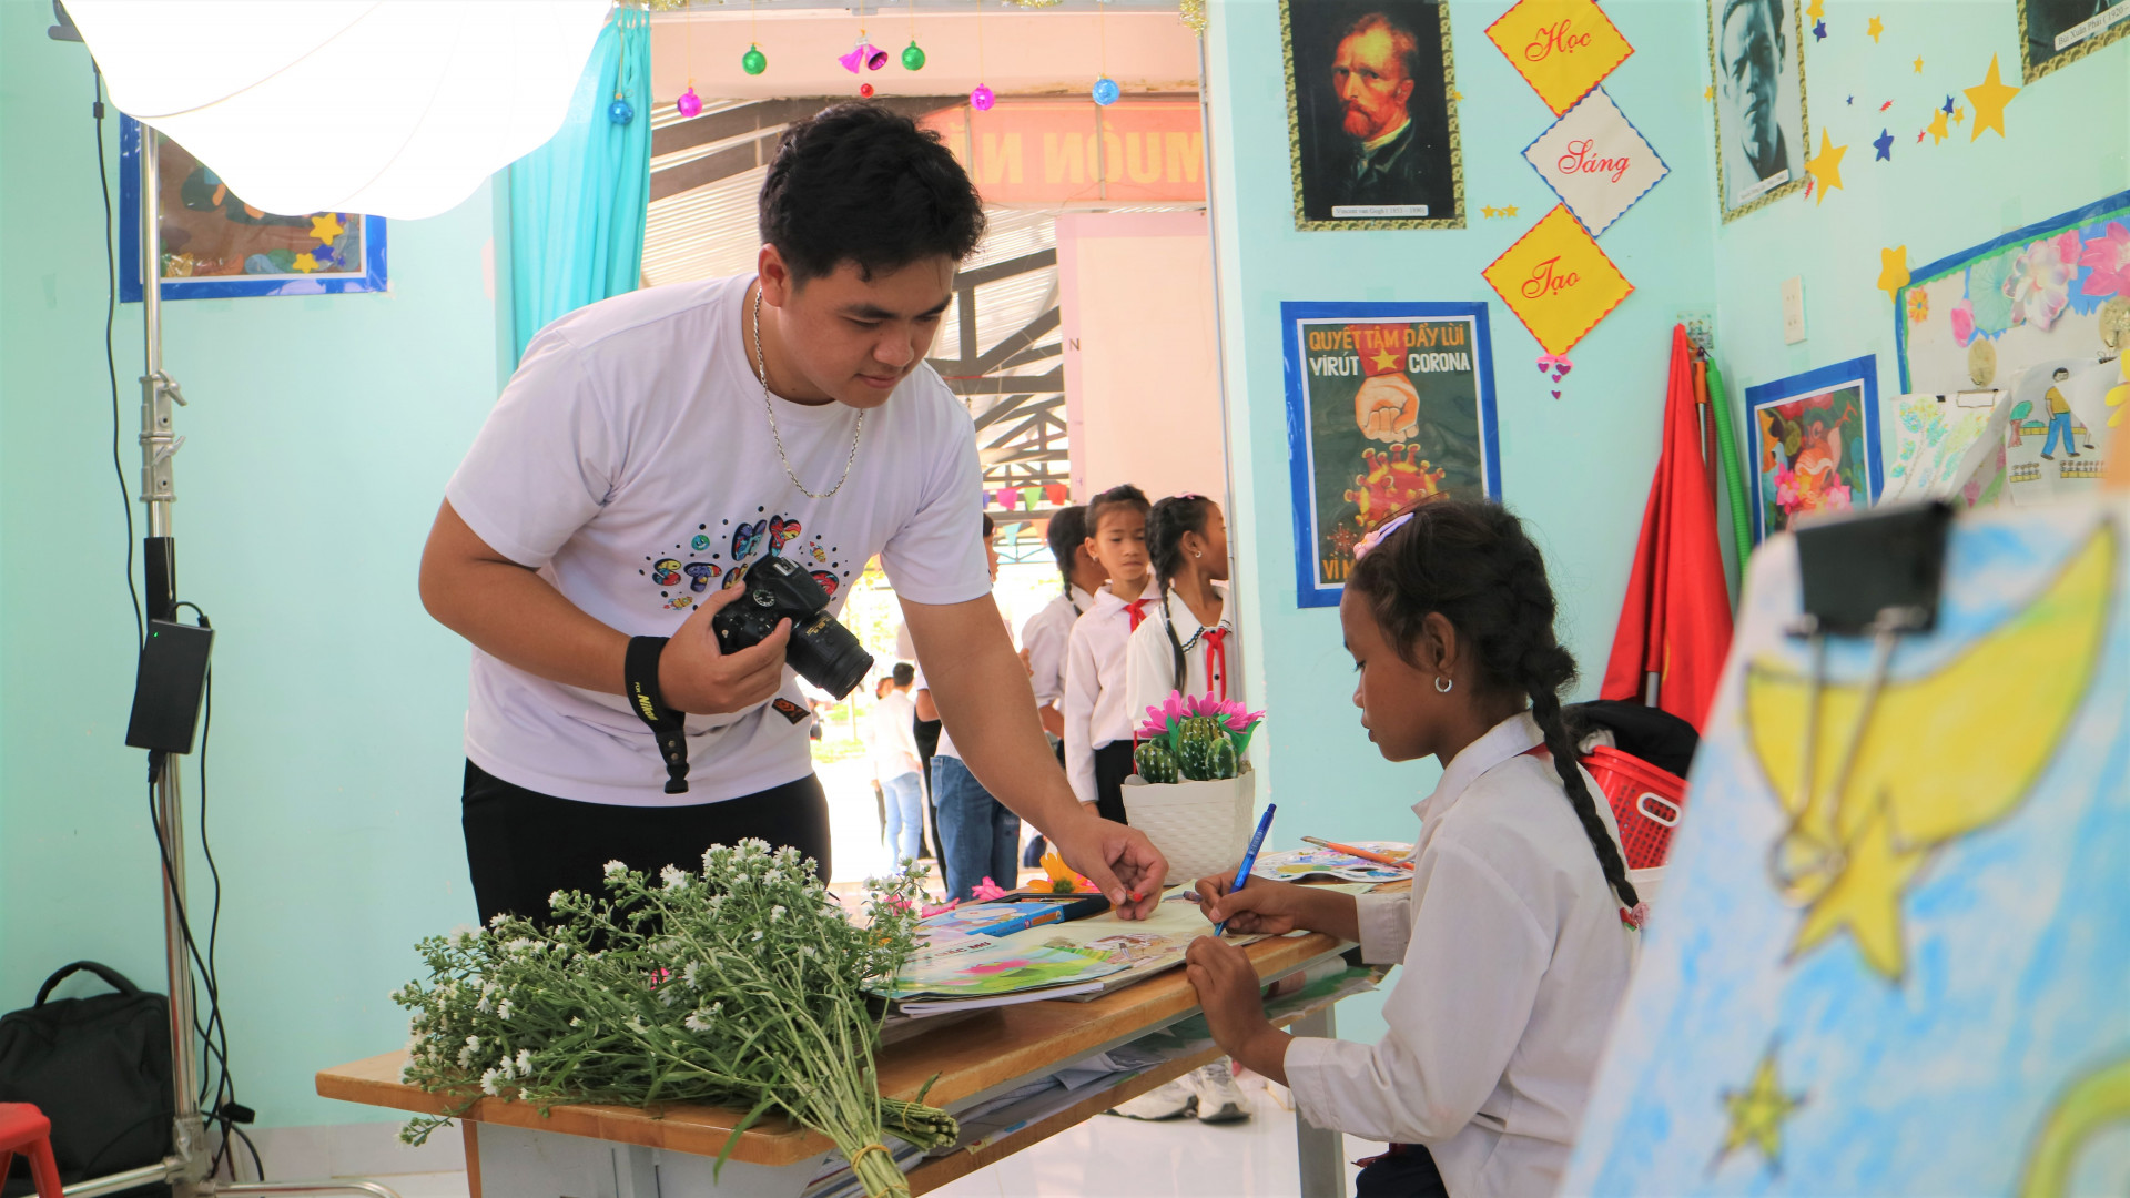
M 1563 1194 L 2130 1177 L 2126 531 L 2119 499 L 1962 516 L 1883 674 L 1791 635 L 1796 544 L 1753 556 L 1693 763 L 1721 802 L 1672 842 Z

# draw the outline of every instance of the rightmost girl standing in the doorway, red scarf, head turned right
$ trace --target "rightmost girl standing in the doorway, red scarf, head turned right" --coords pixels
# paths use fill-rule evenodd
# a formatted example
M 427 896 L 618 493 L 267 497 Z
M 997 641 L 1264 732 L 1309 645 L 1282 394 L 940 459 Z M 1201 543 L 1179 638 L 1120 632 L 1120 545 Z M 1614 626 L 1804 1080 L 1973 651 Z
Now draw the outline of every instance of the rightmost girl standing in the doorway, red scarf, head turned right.
M 1172 693 L 1242 699 L 1235 622 L 1227 614 L 1227 520 L 1203 495 L 1172 495 L 1146 514 L 1146 556 L 1161 599 L 1125 646 L 1133 721 Z

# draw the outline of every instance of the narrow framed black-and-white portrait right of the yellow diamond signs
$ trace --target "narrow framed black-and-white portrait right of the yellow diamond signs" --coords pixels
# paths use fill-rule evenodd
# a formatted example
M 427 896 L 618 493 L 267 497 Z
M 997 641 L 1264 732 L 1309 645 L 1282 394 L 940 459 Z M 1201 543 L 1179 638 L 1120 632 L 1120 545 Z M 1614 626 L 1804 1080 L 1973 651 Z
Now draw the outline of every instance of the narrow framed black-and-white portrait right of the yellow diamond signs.
M 1813 151 L 1798 0 L 1708 0 L 1717 81 L 1717 198 L 1736 220 L 1804 188 Z

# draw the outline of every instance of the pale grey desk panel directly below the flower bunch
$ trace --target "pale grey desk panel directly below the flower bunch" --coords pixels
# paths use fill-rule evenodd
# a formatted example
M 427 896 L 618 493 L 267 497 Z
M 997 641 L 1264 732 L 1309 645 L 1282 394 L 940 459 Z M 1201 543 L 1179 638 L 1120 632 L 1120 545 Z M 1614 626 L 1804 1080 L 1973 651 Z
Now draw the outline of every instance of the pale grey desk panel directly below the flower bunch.
M 484 1123 L 481 1198 L 799 1198 L 826 1153 L 790 1166 L 613 1145 Z

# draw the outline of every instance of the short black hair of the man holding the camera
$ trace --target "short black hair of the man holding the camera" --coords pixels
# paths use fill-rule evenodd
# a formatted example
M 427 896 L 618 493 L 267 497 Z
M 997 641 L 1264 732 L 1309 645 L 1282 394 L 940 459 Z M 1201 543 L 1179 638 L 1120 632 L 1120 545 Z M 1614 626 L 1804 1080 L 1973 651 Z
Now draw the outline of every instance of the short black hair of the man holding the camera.
M 984 200 L 939 134 L 850 102 L 784 132 L 763 179 L 760 230 L 794 284 L 841 262 L 869 279 L 924 258 L 967 258 L 984 237 Z

